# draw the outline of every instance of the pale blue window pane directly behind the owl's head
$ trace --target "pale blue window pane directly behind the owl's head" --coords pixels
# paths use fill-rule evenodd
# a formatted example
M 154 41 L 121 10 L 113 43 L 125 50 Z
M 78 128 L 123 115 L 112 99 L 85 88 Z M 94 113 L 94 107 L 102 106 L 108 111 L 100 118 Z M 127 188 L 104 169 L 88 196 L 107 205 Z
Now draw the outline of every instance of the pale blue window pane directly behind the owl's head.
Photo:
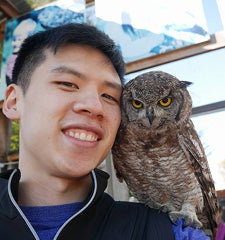
M 180 80 L 193 84 L 189 92 L 193 107 L 198 107 L 225 100 L 225 71 L 223 69 L 225 48 L 170 62 L 157 67 L 128 74 L 127 80 L 148 71 L 161 70 L 168 72 Z

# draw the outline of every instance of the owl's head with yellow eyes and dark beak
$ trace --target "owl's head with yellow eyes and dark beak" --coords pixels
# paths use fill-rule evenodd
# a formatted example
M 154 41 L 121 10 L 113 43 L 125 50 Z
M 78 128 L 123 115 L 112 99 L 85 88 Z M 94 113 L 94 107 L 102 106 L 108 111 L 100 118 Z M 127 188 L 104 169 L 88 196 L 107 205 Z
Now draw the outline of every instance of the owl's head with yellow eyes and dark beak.
M 141 74 L 129 81 L 122 94 L 122 124 L 135 123 L 152 129 L 179 127 L 192 109 L 187 86 L 162 71 Z

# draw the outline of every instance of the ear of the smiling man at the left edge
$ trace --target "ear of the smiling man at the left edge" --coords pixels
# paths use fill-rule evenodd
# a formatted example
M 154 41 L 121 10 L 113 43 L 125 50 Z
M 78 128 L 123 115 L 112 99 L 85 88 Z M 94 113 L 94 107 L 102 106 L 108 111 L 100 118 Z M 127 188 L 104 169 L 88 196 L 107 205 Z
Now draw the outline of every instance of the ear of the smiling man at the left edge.
M 16 84 L 11 84 L 6 89 L 2 112 L 11 120 L 20 119 L 19 99 L 21 94 L 22 90 Z

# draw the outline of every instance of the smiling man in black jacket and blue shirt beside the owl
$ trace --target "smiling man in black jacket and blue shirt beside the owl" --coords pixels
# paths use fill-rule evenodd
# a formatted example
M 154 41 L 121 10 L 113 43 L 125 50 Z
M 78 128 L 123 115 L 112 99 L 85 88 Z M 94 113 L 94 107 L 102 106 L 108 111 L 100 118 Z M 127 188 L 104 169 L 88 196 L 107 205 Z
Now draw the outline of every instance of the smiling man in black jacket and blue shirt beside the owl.
M 120 124 L 124 72 L 114 42 L 95 27 L 69 24 L 25 40 L 3 105 L 20 121 L 20 170 L 1 174 L 1 239 L 207 239 L 104 193 L 108 174 L 96 167 Z

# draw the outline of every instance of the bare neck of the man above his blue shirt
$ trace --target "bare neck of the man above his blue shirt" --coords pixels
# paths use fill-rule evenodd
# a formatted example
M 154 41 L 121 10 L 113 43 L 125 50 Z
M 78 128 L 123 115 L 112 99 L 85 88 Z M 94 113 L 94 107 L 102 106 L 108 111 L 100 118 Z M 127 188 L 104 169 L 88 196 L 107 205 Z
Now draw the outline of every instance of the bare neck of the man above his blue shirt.
M 51 206 L 84 201 L 91 191 L 91 175 L 79 179 L 23 176 L 19 184 L 18 204 L 23 206 Z

